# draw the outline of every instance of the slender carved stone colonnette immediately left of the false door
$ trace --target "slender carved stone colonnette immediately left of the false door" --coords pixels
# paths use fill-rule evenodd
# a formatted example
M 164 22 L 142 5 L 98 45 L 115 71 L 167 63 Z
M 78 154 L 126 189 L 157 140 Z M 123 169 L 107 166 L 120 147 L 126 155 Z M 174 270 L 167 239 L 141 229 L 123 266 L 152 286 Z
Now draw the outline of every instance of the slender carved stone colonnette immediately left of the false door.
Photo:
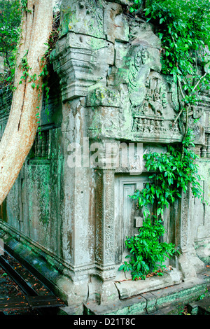
M 115 237 L 115 169 L 97 169 L 96 192 L 96 272 L 101 283 L 99 302 L 118 300 L 114 284 L 116 266 L 114 257 Z

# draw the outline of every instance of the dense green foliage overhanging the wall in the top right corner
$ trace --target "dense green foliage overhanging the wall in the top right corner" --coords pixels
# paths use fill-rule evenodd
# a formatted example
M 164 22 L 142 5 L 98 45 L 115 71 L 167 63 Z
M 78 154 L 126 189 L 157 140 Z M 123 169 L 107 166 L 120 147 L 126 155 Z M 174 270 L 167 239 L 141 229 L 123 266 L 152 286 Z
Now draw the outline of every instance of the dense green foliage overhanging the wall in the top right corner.
M 142 8 L 134 1 L 131 11 Z M 141 10 L 162 41 L 162 73 L 179 83 L 184 106 L 197 104 L 198 92 L 209 88 L 209 0 L 148 0 Z

